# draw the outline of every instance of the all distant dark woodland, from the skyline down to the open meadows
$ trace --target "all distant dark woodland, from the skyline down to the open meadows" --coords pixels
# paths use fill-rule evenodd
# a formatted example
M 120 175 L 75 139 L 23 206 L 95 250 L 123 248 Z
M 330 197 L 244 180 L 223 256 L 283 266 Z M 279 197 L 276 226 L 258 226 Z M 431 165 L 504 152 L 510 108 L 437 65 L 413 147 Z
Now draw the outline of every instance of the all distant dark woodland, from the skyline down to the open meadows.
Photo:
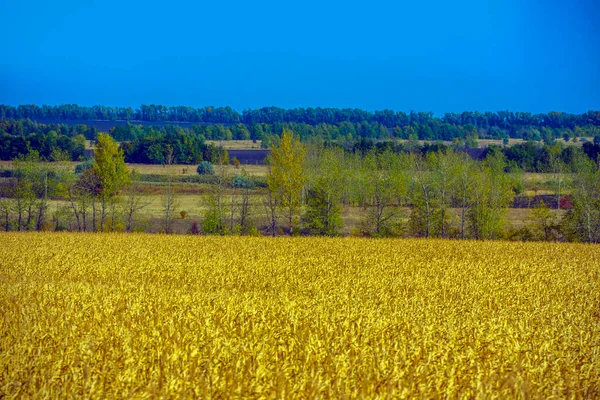
M 269 107 L 239 114 L 230 107 L 193 109 L 151 105 L 133 110 L 76 105 L 16 108 L 0 105 L 0 160 L 26 156 L 31 151 L 48 161 L 84 160 L 85 140 L 95 140 L 99 132 L 91 122 L 119 118 L 128 118 L 130 123 L 115 124 L 107 133 L 121 143 L 125 159 L 131 163 L 161 164 L 169 151 L 173 151 L 176 163 L 218 163 L 223 149 L 206 144 L 206 140 L 260 140 L 263 148 L 271 148 L 277 145 L 285 130 L 305 143 L 341 146 L 346 151 L 363 154 L 371 149 L 423 154 L 444 151 L 448 144 L 443 145 L 440 140 L 452 142 L 453 150 L 468 151 L 478 147 L 478 139 L 504 139 L 506 144 L 508 138 L 522 138 L 527 142 L 504 146 L 502 151 L 515 166 L 536 172 L 548 169 L 551 152 L 560 151 L 563 161 L 569 163 L 575 149 L 557 143 L 557 138 L 566 142 L 587 141 L 583 152 L 594 161 L 600 154 L 600 112 L 597 111 L 581 115 L 465 112 L 436 118 L 431 113 L 405 114 L 389 110 L 371 113 L 331 108 Z M 54 122 L 36 122 L 48 120 Z M 90 121 L 90 126 L 82 123 L 85 121 Z M 187 126 L 178 126 L 177 121 L 185 121 Z M 148 123 L 156 126 L 148 126 Z M 593 139 L 588 141 L 586 137 Z M 421 145 L 418 140 L 434 143 Z M 557 145 L 559 150 L 552 150 Z M 469 154 L 484 158 L 487 151 L 476 149 Z

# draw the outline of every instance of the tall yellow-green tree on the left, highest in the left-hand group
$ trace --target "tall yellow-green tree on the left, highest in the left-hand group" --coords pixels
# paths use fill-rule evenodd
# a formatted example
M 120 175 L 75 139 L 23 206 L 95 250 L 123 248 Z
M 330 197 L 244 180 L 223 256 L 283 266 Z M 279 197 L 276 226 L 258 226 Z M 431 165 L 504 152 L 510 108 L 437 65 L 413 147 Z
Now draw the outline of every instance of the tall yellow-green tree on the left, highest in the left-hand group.
M 117 142 L 107 134 L 98 134 L 96 148 L 94 150 L 94 170 L 100 179 L 101 192 L 99 194 L 101 204 L 100 230 L 104 231 L 106 211 L 109 202 L 114 202 L 119 190 L 129 183 L 129 170 L 125 165 L 123 150 Z

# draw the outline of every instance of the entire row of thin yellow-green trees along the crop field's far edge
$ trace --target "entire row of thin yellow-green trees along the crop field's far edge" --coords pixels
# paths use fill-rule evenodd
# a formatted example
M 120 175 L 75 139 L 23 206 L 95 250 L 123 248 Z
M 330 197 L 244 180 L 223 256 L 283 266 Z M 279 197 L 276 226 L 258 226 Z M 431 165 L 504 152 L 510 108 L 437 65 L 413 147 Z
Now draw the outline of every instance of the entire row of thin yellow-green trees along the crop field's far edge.
M 175 162 L 166 146 L 165 164 Z M 523 228 L 507 224 L 513 199 L 523 191 L 523 170 L 501 148 L 477 161 L 451 148 L 427 153 L 302 143 L 284 131 L 271 150 L 266 189 L 242 170 L 230 173 L 222 157 L 204 161 L 210 175 L 201 196 L 202 219 L 191 233 L 327 235 L 343 231 L 344 212 L 357 212 L 353 234 L 455 239 L 572 240 L 600 242 L 600 170 L 575 149 L 565 162 L 549 155 L 552 196 L 557 210 L 540 201 Z M 14 161 L 0 185 L 5 230 L 132 231 L 148 205 L 141 184 L 125 164 L 122 147 L 98 135 L 95 159 L 72 171 L 61 163 L 40 163 L 30 152 Z M 180 212 L 176 182 L 167 177 L 162 195 L 164 232 Z M 50 212 L 50 200 L 62 199 Z M 358 211 L 360 210 L 360 211 Z

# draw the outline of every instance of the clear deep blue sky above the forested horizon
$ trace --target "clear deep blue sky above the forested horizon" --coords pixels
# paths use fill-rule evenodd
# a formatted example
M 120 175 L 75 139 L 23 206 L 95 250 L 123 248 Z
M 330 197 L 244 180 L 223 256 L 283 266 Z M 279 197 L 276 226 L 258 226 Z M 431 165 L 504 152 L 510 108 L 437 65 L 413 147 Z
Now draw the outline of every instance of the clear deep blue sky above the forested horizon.
M 600 4 L 0 0 L 0 103 L 600 109 Z

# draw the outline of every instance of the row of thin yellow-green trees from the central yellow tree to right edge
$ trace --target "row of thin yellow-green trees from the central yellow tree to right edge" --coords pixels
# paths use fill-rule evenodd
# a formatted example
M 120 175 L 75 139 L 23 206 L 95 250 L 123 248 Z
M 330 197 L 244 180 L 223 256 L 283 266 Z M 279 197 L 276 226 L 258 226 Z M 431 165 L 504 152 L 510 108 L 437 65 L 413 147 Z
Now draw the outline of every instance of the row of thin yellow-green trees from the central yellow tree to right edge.
M 507 229 L 509 207 L 523 190 L 523 172 L 499 148 L 481 162 L 448 148 L 426 154 L 376 148 L 351 153 L 336 146 L 307 147 L 285 131 L 272 150 L 262 228 L 273 236 L 337 236 L 343 213 L 362 209 L 353 232 L 361 236 L 600 242 L 598 165 L 581 150 L 569 164 L 558 157 L 552 162 L 559 210 L 541 201 L 525 227 Z M 221 173 L 220 182 L 227 179 Z M 248 209 L 237 214 L 240 208 L 233 200 L 229 205 L 225 193 L 220 184 L 208 195 L 206 233 L 240 232 L 237 222 L 241 215 L 248 218 Z

